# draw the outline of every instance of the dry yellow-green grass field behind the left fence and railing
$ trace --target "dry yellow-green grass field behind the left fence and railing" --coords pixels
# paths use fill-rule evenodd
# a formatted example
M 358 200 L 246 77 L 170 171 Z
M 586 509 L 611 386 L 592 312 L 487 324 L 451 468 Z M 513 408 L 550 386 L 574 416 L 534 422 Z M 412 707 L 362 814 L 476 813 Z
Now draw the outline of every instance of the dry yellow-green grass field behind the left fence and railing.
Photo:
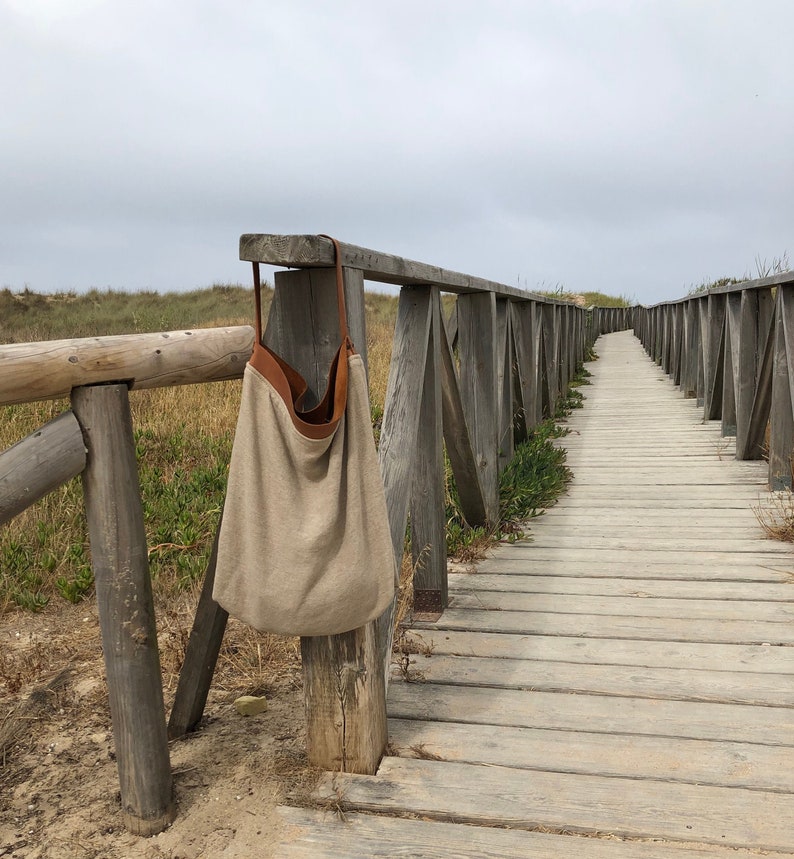
M 271 290 L 264 295 L 265 308 Z M 0 341 L 143 333 L 249 324 L 252 290 L 215 285 L 188 293 L 39 295 L 0 291 Z M 382 414 L 395 296 L 367 293 L 366 313 L 373 417 Z M 240 382 L 131 391 L 130 400 L 149 562 L 155 588 L 164 594 L 200 581 L 223 500 L 240 398 Z M 50 401 L 0 407 L 0 450 L 10 447 L 68 408 Z M 550 503 L 566 472 L 552 449 L 552 425 L 538 428 L 522 469 L 506 473 L 505 518 L 515 520 Z M 481 546 L 493 534 L 468 529 L 450 486 L 449 549 Z M 521 499 L 520 503 L 517 499 Z M 0 611 L 38 610 L 53 598 L 77 602 L 91 592 L 93 577 L 80 479 L 32 506 L 0 531 Z

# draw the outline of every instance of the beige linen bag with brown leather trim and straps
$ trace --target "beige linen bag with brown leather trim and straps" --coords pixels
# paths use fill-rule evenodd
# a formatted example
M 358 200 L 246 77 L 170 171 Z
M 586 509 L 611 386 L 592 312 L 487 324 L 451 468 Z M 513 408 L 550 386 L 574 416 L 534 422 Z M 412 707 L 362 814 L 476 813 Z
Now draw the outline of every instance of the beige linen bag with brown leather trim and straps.
M 262 632 L 347 632 L 378 617 L 395 592 L 366 372 L 348 336 L 332 241 L 342 342 L 325 395 L 305 411 L 306 381 L 262 345 L 254 263 L 256 341 L 243 376 L 212 596 Z

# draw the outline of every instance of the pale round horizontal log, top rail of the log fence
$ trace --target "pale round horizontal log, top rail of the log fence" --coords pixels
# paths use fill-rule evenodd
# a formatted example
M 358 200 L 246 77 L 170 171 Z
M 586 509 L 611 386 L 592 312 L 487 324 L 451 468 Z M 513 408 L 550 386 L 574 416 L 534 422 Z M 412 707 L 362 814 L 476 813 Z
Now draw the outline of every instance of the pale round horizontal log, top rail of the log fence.
M 106 382 L 137 389 L 238 379 L 253 344 L 254 329 L 241 325 L 0 346 L 0 406 Z

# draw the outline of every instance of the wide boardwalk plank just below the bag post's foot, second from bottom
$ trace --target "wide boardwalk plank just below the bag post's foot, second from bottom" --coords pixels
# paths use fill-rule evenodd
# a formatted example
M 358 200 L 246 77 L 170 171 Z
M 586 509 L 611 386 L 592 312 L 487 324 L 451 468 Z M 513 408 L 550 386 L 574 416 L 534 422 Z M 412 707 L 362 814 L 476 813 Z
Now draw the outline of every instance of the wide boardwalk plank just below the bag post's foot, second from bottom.
M 319 793 L 357 810 L 794 850 L 794 795 L 771 791 L 386 758 L 377 777 L 328 776 Z

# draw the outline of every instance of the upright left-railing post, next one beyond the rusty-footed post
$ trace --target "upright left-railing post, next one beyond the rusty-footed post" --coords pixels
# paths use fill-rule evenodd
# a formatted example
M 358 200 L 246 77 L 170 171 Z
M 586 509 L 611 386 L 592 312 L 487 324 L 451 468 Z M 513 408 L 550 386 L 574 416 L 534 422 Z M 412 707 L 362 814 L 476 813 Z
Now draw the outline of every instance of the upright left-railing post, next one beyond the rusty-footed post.
M 490 522 L 499 521 L 496 405 L 496 297 L 492 292 L 458 297 L 460 395 L 480 466 Z

